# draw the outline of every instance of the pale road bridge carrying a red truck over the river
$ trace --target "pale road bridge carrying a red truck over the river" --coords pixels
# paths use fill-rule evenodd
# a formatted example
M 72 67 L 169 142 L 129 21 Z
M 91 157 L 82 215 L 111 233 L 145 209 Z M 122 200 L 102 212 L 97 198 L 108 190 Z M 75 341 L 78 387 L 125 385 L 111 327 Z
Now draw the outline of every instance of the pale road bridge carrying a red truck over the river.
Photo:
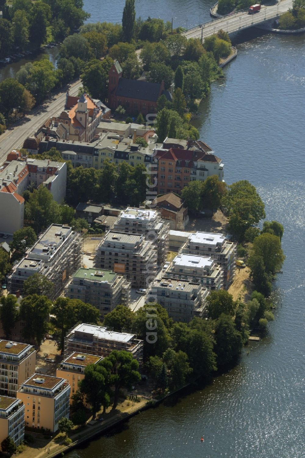
M 272 6 L 262 5 L 261 11 L 258 13 L 248 14 L 247 11 L 239 11 L 235 14 L 222 16 L 206 22 L 198 27 L 193 27 L 183 32 L 183 35 L 187 38 L 202 38 L 204 41 L 204 38 L 217 33 L 220 29 L 230 34 L 248 27 L 264 24 L 268 20 L 285 13 L 289 8 L 292 8 L 292 0 L 282 0 Z

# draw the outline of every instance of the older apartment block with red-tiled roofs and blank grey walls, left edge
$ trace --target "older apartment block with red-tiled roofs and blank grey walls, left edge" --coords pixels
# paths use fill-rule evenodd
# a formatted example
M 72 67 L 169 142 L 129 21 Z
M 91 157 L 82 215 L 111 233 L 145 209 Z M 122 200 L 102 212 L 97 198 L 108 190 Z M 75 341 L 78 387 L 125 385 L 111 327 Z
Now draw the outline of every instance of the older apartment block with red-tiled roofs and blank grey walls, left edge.
M 13 152 L 14 153 L 14 152 Z M 66 195 L 67 164 L 55 161 L 27 159 L 8 160 L 0 168 L 0 232 L 13 234 L 23 227 L 24 198 L 21 194 L 30 183 L 45 186 L 56 202 Z

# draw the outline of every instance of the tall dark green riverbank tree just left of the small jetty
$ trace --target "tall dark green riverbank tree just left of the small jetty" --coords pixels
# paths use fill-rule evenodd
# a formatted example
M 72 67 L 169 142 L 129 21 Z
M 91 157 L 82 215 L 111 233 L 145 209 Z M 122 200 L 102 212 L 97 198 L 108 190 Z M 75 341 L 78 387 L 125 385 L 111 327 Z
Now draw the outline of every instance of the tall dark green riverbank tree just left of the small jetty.
M 230 367 L 242 349 L 241 333 L 236 331 L 233 319 L 221 314 L 215 323 L 215 353 L 218 368 Z

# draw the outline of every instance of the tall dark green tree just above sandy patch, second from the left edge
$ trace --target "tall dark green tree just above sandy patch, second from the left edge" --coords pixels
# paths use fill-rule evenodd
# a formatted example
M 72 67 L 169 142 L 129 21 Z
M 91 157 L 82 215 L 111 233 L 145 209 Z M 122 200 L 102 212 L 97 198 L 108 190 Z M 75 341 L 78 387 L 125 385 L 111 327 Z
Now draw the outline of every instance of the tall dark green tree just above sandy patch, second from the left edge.
M 19 315 L 25 322 L 23 329 L 24 338 L 34 338 L 40 347 L 43 336 L 48 332 L 48 316 L 51 301 L 46 296 L 37 294 L 27 295 L 21 300 Z

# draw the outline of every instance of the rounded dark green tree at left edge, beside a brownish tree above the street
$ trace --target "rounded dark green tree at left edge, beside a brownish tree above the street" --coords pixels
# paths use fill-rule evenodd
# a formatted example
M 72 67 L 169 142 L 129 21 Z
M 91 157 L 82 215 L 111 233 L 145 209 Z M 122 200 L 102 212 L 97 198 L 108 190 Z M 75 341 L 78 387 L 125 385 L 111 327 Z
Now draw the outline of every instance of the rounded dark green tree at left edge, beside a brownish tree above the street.
M 0 82 L 0 111 L 8 116 L 23 101 L 24 87 L 14 78 L 5 78 Z

